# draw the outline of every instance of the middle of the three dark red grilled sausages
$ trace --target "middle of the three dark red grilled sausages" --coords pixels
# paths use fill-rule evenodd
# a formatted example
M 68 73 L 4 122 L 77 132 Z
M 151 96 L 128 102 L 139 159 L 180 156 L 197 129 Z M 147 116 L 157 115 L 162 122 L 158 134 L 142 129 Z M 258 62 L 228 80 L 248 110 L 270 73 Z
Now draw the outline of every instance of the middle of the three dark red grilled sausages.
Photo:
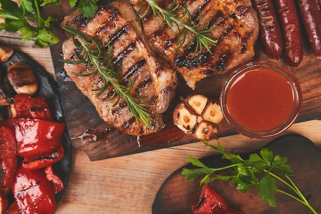
M 289 66 L 297 67 L 303 59 L 302 36 L 294 0 L 275 1 L 285 42 L 285 59 Z

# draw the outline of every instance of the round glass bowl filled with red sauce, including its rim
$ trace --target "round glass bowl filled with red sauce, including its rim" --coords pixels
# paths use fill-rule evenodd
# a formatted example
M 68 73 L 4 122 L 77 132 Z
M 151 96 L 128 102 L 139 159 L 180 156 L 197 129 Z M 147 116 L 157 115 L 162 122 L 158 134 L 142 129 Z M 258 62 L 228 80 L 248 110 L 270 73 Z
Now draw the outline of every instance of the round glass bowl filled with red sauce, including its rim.
M 295 76 L 271 63 L 249 63 L 234 71 L 220 98 L 227 122 L 252 138 L 276 135 L 297 118 L 302 92 Z

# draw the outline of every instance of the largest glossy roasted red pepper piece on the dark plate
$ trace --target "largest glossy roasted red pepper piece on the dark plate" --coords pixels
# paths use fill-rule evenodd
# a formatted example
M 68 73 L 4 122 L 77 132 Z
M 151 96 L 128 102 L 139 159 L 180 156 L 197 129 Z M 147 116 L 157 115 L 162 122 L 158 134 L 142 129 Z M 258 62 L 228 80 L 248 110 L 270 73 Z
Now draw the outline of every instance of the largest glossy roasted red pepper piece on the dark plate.
M 51 153 L 61 146 L 64 123 L 37 119 L 11 119 L 3 123 L 14 130 L 19 157 Z

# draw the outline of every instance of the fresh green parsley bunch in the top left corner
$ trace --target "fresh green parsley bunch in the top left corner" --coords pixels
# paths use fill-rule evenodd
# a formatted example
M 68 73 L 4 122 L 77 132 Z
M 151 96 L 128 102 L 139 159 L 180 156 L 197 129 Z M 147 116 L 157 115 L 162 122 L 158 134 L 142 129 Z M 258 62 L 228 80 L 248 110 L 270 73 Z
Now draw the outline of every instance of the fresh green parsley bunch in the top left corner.
M 78 7 L 79 12 L 92 18 L 98 8 L 97 0 L 70 0 L 71 7 Z M 22 34 L 22 41 L 35 40 L 39 47 L 54 45 L 59 41 L 55 35 L 52 16 L 43 18 L 41 7 L 61 4 L 61 0 L 20 0 L 19 4 L 11 0 L 0 0 L 0 15 L 5 22 L 0 24 L 0 30 Z

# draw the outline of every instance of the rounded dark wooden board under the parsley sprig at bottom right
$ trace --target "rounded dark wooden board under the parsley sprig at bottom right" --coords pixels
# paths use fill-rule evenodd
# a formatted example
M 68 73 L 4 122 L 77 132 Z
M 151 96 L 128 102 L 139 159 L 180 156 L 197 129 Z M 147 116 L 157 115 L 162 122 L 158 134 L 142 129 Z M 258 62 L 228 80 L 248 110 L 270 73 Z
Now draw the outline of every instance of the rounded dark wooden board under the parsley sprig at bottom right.
M 284 135 L 269 143 L 267 146 L 275 154 L 288 158 L 287 164 L 291 166 L 294 176 L 293 182 L 304 194 L 314 209 L 321 213 L 321 150 L 309 139 L 299 135 Z M 258 151 L 255 151 L 258 152 Z M 247 158 L 249 154 L 242 154 Z M 223 160 L 222 155 L 212 155 L 200 159 L 210 167 L 226 166 L 229 161 Z M 152 205 L 153 214 L 187 214 L 192 213 L 190 207 L 198 201 L 202 188 L 199 180 L 188 182 L 182 175 L 183 168 L 195 168 L 188 164 L 177 169 L 158 190 Z M 221 173 L 219 173 L 221 174 Z M 224 174 L 224 172 L 222 172 Z M 282 183 L 276 182 L 279 189 L 290 192 L 291 190 Z M 209 184 L 230 207 L 244 211 L 246 214 L 309 214 L 312 213 L 305 205 L 285 196 L 275 193 L 276 207 L 269 207 L 257 196 L 255 187 L 246 194 L 238 191 L 236 185 L 230 181 L 215 180 Z

